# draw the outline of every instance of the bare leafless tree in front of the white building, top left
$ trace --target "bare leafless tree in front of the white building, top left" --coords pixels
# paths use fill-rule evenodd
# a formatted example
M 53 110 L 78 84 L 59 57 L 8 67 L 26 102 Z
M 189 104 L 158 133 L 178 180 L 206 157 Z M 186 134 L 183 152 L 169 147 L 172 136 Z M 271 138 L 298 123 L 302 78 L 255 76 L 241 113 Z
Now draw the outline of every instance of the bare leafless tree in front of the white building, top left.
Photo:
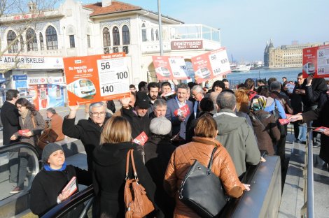
M 29 29 L 36 29 L 36 24 L 47 19 L 57 2 L 59 0 L 0 0 L 0 59 L 6 52 L 15 55 L 15 64 L 0 69 L 0 73 L 18 68 L 18 55 L 24 52 L 25 45 L 29 48 L 36 42 L 36 33 L 31 34 Z M 3 33 L 7 28 L 14 29 L 10 36 Z M 25 40 L 23 34 L 28 36 Z

